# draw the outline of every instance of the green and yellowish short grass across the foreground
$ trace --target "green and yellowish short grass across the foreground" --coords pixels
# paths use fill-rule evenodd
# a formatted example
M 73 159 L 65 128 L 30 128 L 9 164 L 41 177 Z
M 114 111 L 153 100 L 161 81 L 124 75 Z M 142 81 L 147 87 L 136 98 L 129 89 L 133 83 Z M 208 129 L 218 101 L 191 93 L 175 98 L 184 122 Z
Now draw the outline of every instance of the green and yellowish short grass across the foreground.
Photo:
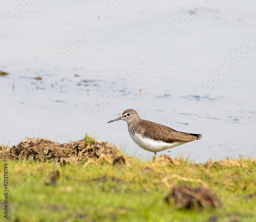
M 102 161 L 65 166 L 2 161 L 1 175 L 8 164 L 10 221 L 189 222 L 208 221 L 214 215 L 224 222 L 256 221 L 255 160 L 223 166 L 180 160 L 170 166 L 126 158 L 129 164 L 114 166 Z M 49 173 L 56 170 L 56 185 L 46 185 Z M 164 201 L 174 185 L 202 184 L 216 192 L 222 207 L 186 210 Z

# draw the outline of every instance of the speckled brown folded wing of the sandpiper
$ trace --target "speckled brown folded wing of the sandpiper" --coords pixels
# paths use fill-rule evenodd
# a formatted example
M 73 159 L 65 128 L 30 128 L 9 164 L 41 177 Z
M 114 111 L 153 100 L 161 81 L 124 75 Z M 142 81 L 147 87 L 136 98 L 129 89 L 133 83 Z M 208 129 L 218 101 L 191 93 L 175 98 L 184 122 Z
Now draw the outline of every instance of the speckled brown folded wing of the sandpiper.
M 166 143 L 187 143 L 194 140 L 200 140 L 201 138 L 200 134 L 189 134 L 187 132 L 176 131 L 175 129 L 148 120 L 141 120 L 137 127 L 138 128 L 135 129 L 135 131 L 141 131 L 144 137 L 161 140 Z

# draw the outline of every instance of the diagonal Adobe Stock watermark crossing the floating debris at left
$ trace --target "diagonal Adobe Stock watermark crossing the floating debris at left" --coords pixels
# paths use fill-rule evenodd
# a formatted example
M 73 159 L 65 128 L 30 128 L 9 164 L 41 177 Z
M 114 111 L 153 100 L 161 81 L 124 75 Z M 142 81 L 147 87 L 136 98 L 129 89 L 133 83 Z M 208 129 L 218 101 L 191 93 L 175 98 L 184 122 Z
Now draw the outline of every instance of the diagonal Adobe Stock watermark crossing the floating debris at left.
M 54 69 L 59 67 L 60 62 L 65 61 L 77 49 L 77 47 L 79 47 L 84 42 L 85 39 L 86 37 L 83 36 L 81 33 L 79 35 L 75 34 L 72 43 L 70 43 L 69 45 L 67 45 L 66 48 L 62 48 L 56 53 L 56 57 L 59 58 L 60 61 L 54 59 L 51 61 L 50 65 L 43 65 L 42 72 L 39 75 L 35 75 L 35 77 L 46 79 L 47 76 L 53 74 Z M 32 82 L 27 83 L 27 86 L 29 92 L 32 93 L 33 88 L 38 87 L 38 83 L 36 82 L 36 80 L 33 80 Z

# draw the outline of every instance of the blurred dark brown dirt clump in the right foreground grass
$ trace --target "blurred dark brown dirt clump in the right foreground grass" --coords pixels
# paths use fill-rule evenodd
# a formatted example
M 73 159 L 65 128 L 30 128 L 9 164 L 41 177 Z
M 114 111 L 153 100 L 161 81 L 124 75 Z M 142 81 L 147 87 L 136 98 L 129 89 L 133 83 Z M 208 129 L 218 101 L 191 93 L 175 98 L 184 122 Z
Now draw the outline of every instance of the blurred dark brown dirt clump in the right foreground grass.
M 178 208 L 200 209 L 203 207 L 220 207 L 221 202 L 214 191 L 200 186 L 191 188 L 189 186 L 175 186 L 165 197 L 167 203 L 174 199 Z

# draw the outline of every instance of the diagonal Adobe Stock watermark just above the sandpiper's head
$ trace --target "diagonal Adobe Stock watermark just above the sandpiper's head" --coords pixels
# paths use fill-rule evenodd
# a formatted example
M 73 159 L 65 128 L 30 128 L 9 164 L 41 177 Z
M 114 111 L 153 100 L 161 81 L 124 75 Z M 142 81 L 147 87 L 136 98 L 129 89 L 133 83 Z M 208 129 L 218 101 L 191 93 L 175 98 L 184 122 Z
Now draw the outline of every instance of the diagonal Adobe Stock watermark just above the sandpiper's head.
M 141 69 L 145 68 L 148 62 L 151 61 L 151 58 L 148 58 L 147 55 L 140 55 L 139 58 L 139 61 L 137 62 L 136 65 L 133 66 L 131 70 L 126 70 L 126 72 L 124 72 L 121 75 L 121 77 L 125 80 L 125 83 L 131 82 L 132 78 L 136 77 L 141 71 Z M 102 110 L 103 107 L 108 105 L 108 102 L 110 102 L 113 99 L 113 97 L 117 96 L 120 90 L 124 89 L 124 87 L 125 84 L 121 81 L 118 81 L 114 87 L 107 88 L 106 90 L 108 91 L 108 93 L 106 93 L 104 96 L 98 97 L 98 102 L 96 104 L 92 104 L 93 112 L 97 114 L 99 110 Z

